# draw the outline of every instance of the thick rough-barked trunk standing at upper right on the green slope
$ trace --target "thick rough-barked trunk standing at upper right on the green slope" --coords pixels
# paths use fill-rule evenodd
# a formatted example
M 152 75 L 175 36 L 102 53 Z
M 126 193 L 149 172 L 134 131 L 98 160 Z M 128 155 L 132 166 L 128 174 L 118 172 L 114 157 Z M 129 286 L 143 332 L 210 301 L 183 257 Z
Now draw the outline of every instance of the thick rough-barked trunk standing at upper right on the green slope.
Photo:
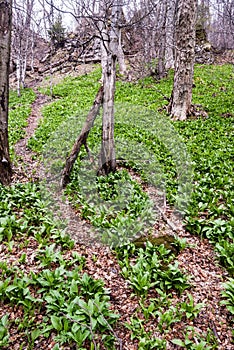
M 174 120 L 186 120 L 192 102 L 197 0 L 177 0 L 175 10 L 175 74 L 169 104 Z

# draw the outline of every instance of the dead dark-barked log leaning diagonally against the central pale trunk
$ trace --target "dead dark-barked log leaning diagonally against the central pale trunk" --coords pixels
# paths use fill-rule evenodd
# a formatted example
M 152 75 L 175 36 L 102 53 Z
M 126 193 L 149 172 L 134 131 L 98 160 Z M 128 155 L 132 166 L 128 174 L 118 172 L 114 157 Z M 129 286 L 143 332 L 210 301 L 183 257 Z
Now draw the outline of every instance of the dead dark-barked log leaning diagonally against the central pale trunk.
M 73 165 L 79 155 L 81 146 L 86 145 L 86 141 L 87 141 L 90 129 L 92 128 L 95 118 L 99 113 L 102 100 L 103 100 L 103 87 L 101 86 L 96 95 L 93 106 L 90 109 L 89 114 L 87 115 L 86 121 L 81 130 L 81 133 L 72 148 L 71 154 L 66 160 L 66 165 L 64 167 L 64 170 L 62 173 L 62 179 L 61 179 L 62 188 L 65 188 L 70 181 L 70 174 L 71 174 Z

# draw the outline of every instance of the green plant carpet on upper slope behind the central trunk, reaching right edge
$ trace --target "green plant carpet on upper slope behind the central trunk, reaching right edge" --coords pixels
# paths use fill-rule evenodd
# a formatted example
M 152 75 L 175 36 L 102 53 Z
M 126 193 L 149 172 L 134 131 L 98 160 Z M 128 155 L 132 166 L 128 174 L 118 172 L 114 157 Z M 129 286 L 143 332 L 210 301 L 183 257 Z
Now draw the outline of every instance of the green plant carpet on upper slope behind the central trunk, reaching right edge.
M 63 84 L 57 85 L 54 94 L 59 99 L 45 107 L 44 120 L 29 142 L 34 150 L 42 151 L 42 145 L 48 140 L 51 131 L 63 121 L 61 130 L 58 131 L 57 143 L 52 142 L 50 145 L 53 152 L 62 143 L 62 133 L 66 134 L 69 129 L 73 132 L 70 144 L 65 147 L 62 157 L 60 156 L 59 171 L 84 120 L 84 112 L 80 112 L 82 118 L 79 118 L 78 111 L 88 109 L 91 105 L 99 74 L 97 70 L 88 77 L 67 78 Z M 207 237 L 215 245 L 220 261 L 230 274 L 234 271 L 233 74 L 231 65 L 196 66 L 193 101 L 202 105 L 208 118 L 175 122 L 166 136 L 166 132 L 162 132 L 162 124 L 165 121 L 170 128 L 170 122 L 165 115 L 159 115 L 155 111 L 165 105 L 165 96 L 168 97 L 171 91 L 172 74 L 158 83 L 151 78 L 137 83 L 118 81 L 115 124 L 117 147 L 121 143 L 117 157 L 121 159 L 127 155 L 130 159 L 127 158 L 125 165 L 135 168 L 148 182 L 151 181 L 151 174 L 156 173 L 157 178 L 153 180 L 153 184 L 166 189 L 167 200 L 171 205 L 185 202 L 184 207 L 181 204 L 179 209 L 185 215 L 187 229 L 191 233 Z M 152 111 L 152 114 L 148 111 Z M 76 118 L 68 118 L 76 113 Z M 164 133 L 164 138 L 160 138 L 160 133 Z M 100 134 L 100 120 L 97 120 L 88 140 L 91 150 L 95 150 L 96 145 L 100 144 Z M 168 140 L 173 138 L 179 140 L 180 147 L 185 147 L 184 153 L 187 152 L 191 160 L 183 158 L 183 152 L 176 149 L 177 142 L 170 144 Z M 134 156 L 139 145 L 140 151 Z M 129 156 L 131 152 L 133 156 Z M 81 155 L 82 159 L 84 154 L 83 152 Z M 146 159 L 143 165 L 142 159 Z M 190 201 L 183 197 L 187 192 L 187 188 L 183 187 L 186 167 L 190 167 L 191 172 L 187 176 L 191 175 L 189 181 L 192 183 L 186 178 L 188 187 L 191 185 L 192 188 L 192 194 L 189 193 Z M 76 175 L 73 180 L 71 186 L 74 190 L 78 186 Z M 112 214 L 108 212 L 108 215 L 111 218 Z

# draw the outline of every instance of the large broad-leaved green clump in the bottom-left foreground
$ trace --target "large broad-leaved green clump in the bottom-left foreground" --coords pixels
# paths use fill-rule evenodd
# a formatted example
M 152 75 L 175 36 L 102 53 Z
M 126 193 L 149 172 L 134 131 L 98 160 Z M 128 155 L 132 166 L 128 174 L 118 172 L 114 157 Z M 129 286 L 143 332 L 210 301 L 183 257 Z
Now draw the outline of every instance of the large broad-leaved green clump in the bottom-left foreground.
M 51 268 L 51 262 L 58 267 L 46 268 Z M 67 261 L 53 253 L 49 261 L 45 255 L 44 269 L 38 273 L 27 275 L 18 268 L 1 266 L 0 300 L 23 308 L 23 319 L 16 324 L 28 335 L 31 345 L 39 336 L 52 333 L 58 344 L 76 344 L 80 348 L 101 341 L 107 347 L 113 345 L 116 338 L 112 326 L 118 315 L 109 308 L 103 282 L 82 273 L 83 265 L 82 257 L 73 255 Z M 43 321 L 35 322 L 38 314 L 44 315 Z

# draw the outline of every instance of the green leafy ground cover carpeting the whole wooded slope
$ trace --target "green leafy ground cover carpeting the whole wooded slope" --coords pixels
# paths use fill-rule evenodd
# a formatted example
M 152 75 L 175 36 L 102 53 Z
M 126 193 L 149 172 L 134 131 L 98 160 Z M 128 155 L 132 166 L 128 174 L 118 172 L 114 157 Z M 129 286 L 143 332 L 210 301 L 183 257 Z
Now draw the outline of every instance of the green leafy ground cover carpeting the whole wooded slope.
M 69 147 L 92 104 L 99 78 L 99 70 L 85 77 L 67 78 L 54 88 L 56 100 L 43 109 L 44 119 L 29 146 L 47 160 L 55 158 L 49 164 L 52 173 L 58 174 L 63 167 Z M 184 214 L 187 229 L 214 244 L 220 262 L 231 276 L 224 284 L 222 303 L 233 313 L 233 68 L 196 66 L 194 84 L 194 103 L 203 106 L 208 118 L 175 122 L 170 127 L 162 108 L 165 97 L 170 96 L 171 73 L 158 83 L 149 78 L 137 83 L 118 81 L 115 138 L 121 147 L 117 156 L 125 160 L 125 168 L 140 174 L 143 183 L 156 185 L 162 192 L 166 190 L 168 203 L 177 204 Z M 98 152 L 100 124 L 97 120 L 89 136 L 92 155 Z M 69 130 L 72 136 L 66 135 L 64 146 L 62 135 Z M 21 137 L 21 134 L 13 135 L 12 144 Z M 174 143 L 169 142 L 171 139 Z M 55 153 L 60 150 L 56 158 Z M 97 227 L 104 241 L 109 243 L 110 239 L 114 243 L 121 273 L 138 297 L 139 307 L 125 324 L 132 340 L 137 339 L 139 349 L 166 349 L 165 335 L 173 325 L 188 324 L 198 317 L 204 305 L 194 302 L 188 291 L 192 282 L 179 269 L 173 251 L 150 243 L 136 248 L 122 240 L 129 238 L 129 232 L 135 236 L 144 231 L 145 222 L 149 231 L 154 220 L 152 203 L 138 182 L 123 169 L 107 179 L 97 180 L 95 173 L 89 177 L 87 167 L 82 174 L 85 160 L 86 153 L 82 150 L 67 195 L 83 217 Z M 192 185 L 192 193 L 183 187 L 184 180 Z M 75 252 L 67 255 L 74 242 L 64 233 L 63 226 L 58 228 L 40 193 L 31 184 L 0 189 L 0 241 L 5 252 L 10 256 L 18 245 L 22 249 L 32 245 L 36 261 L 36 270 L 27 272 L 25 250 L 18 261 L 1 262 L 1 302 L 23 310 L 16 320 L 10 315 L 0 320 L 1 346 L 12 345 L 9 328 L 16 327 L 32 349 L 36 340 L 50 336 L 57 342 L 54 349 L 59 349 L 61 344 L 76 344 L 79 349 L 87 346 L 92 349 L 97 344 L 104 344 L 107 349 L 112 349 L 114 344 L 118 347 L 113 332 L 118 315 L 110 311 L 108 292 L 102 281 L 84 273 L 83 257 Z M 117 246 L 113 241 L 116 236 Z M 150 299 L 152 291 L 154 297 Z M 174 305 L 174 293 L 182 294 L 184 301 Z M 152 318 L 158 337 L 146 332 L 147 320 Z M 184 328 L 183 338 L 172 342 L 187 349 L 218 347 L 209 329 L 201 335 L 191 326 Z

